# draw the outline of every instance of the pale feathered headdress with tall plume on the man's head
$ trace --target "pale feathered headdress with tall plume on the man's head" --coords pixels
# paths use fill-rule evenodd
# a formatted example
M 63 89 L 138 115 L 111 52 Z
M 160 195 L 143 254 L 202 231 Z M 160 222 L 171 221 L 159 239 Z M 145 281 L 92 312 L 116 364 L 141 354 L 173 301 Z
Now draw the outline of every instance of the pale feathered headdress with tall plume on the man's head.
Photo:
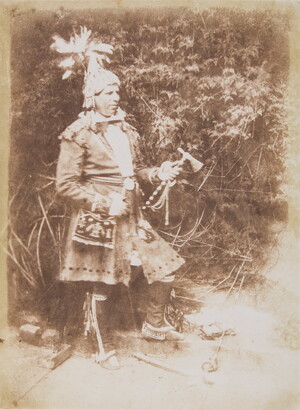
M 63 79 L 84 71 L 84 104 L 85 108 L 93 106 L 95 93 L 100 92 L 109 84 L 119 84 L 119 78 L 111 71 L 105 69 L 105 62 L 109 63 L 109 56 L 113 53 L 113 46 L 91 40 L 92 31 L 86 27 L 80 27 L 80 34 L 74 34 L 70 41 L 62 37 L 53 36 L 54 42 L 51 49 L 63 54 L 65 58 L 59 63 L 59 67 L 65 72 Z

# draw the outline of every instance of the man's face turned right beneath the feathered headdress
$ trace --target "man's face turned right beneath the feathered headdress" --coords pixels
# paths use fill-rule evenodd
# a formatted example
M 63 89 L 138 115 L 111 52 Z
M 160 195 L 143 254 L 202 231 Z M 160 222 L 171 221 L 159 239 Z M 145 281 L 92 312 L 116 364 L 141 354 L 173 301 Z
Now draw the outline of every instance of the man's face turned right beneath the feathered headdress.
M 120 95 L 117 84 L 108 85 L 99 94 L 95 94 L 95 110 L 104 117 L 115 115 L 119 107 Z

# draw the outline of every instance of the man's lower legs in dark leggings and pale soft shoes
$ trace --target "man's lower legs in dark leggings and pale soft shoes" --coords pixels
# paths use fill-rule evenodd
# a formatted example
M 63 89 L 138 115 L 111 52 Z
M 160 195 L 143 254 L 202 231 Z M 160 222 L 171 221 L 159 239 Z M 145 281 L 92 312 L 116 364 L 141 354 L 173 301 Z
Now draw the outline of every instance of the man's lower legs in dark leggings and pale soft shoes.
M 154 282 L 148 286 L 148 303 L 146 319 L 142 325 L 142 336 L 158 341 L 182 341 L 184 336 L 175 331 L 165 317 L 165 307 L 170 301 L 172 284 Z M 98 284 L 86 301 L 85 329 L 97 348 L 97 362 L 109 370 L 120 368 L 113 343 L 113 324 L 111 311 L 113 303 L 113 286 Z M 87 306 L 88 305 L 88 306 Z

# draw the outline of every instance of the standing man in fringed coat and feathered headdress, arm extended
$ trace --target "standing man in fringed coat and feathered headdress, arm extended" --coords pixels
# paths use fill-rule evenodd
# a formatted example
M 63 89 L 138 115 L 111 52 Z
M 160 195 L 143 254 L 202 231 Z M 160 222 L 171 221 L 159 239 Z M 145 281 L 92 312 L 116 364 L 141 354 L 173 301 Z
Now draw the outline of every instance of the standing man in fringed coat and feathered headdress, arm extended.
M 59 280 L 90 284 L 86 330 L 97 340 L 97 361 L 118 369 L 113 346 L 111 309 L 114 286 L 128 286 L 132 267 L 140 266 L 149 286 L 146 320 L 142 334 L 156 340 L 182 340 L 165 319 L 174 272 L 184 260 L 143 218 L 139 182 L 159 184 L 173 180 L 178 164 L 142 166 L 139 135 L 119 108 L 119 78 L 106 70 L 112 47 L 90 40 L 91 32 L 66 42 L 54 37 L 52 48 L 67 59 L 63 78 L 84 67 L 84 111 L 60 135 L 57 191 L 71 207 Z M 140 268 L 140 269 L 141 269 Z

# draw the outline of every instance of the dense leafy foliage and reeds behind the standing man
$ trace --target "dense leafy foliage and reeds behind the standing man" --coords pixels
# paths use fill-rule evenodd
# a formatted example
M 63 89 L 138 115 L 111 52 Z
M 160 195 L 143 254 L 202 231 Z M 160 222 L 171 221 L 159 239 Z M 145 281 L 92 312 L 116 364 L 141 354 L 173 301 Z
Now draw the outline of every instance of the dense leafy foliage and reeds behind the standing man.
M 142 136 L 145 162 L 178 159 L 182 147 L 205 163 L 173 188 L 170 227 L 162 214 L 149 215 L 187 260 L 179 278 L 258 273 L 274 226 L 286 218 L 287 17 L 235 9 L 32 10 L 13 17 L 9 253 L 16 282 L 22 278 L 30 292 L 47 288 L 61 259 L 66 210 L 54 188 L 57 136 L 81 110 L 82 78 L 61 79 L 50 44 L 55 33 L 68 39 L 84 25 L 115 47 L 110 68 L 122 80 L 122 108 Z

